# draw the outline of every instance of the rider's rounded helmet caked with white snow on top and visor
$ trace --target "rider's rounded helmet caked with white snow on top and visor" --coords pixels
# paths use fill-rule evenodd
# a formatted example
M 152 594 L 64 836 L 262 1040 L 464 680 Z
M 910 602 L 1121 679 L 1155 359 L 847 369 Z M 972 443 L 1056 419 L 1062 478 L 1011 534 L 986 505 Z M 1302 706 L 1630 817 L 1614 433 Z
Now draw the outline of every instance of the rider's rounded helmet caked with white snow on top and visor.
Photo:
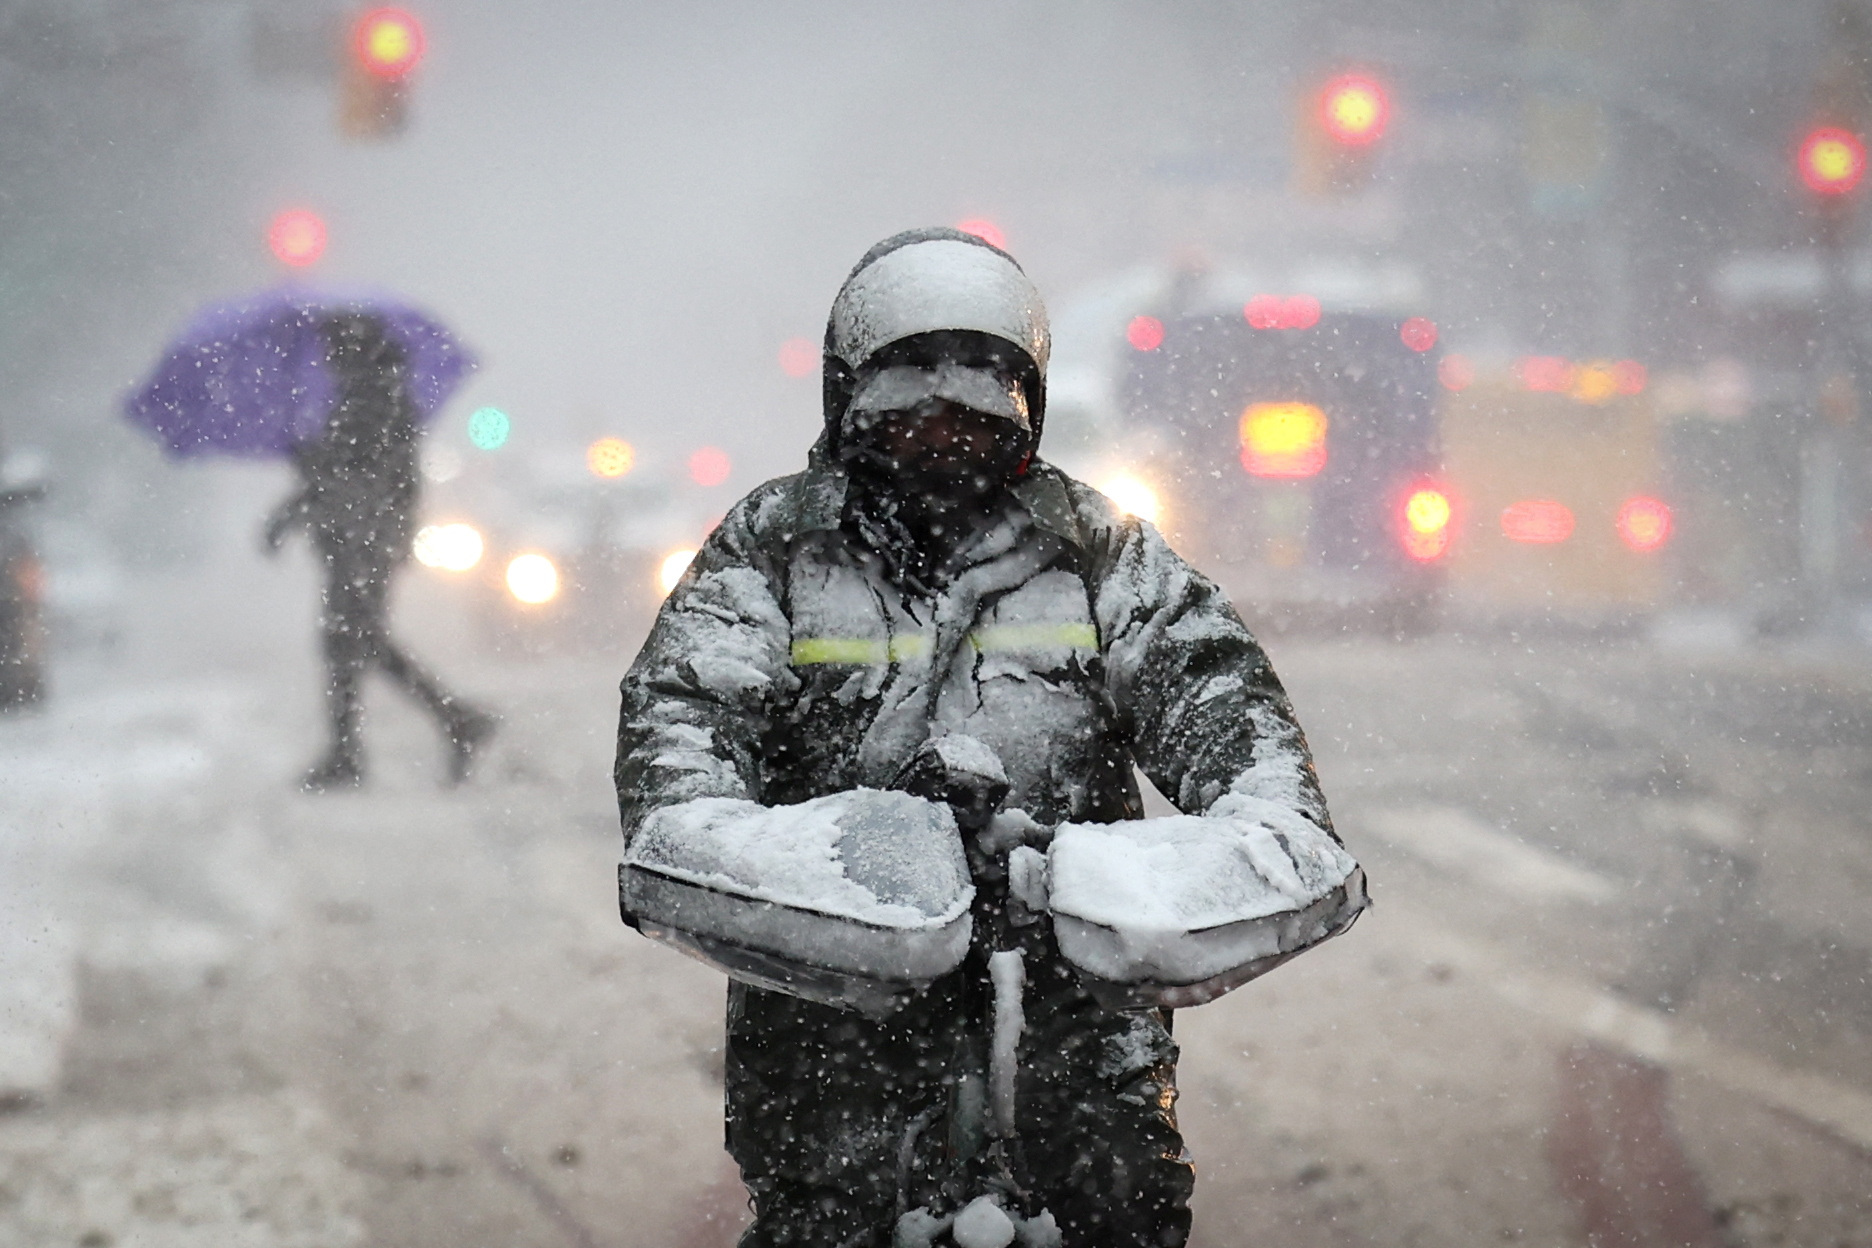
M 827 425 L 837 427 L 842 419 L 857 393 L 859 372 L 880 352 L 906 339 L 942 333 L 987 335 L 1016 348 L 1026 384 L 1022 393 L 996 399 L 973 393 L 981 384 L 962 370 L 925 367 L 921 385 L 1037 434 L 1052 350 L 1046 305 L 1013 256 L 973 234 L 949 228 L 906 230 L 884 239 L 865 253 L 839 288 L 826 326 Z M 878 372 L 895 376 L 867 378 L 880 391 L 867 402 L 885 402 L 893 389 L 906 391 L 897 400 L 908 400 L 906 387 L 919 384 L 904 370 Z

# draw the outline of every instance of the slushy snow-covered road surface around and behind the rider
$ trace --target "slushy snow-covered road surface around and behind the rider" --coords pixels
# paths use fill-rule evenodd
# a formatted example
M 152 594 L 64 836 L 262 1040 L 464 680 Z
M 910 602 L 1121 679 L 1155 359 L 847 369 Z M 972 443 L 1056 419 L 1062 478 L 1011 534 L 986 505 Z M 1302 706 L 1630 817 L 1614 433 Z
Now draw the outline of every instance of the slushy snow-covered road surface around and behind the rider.
M 627 655 L 446 632 L 461 791 L 382 694 L 294 791 L 296 636 L 0 720 L 0 1244 L 732 1241 L 721 980 L 616 919 Z M 1872 664 L 1269 649 L 1376 909 L 1177 1018 L 1196 1242 L 1865 1241 Z

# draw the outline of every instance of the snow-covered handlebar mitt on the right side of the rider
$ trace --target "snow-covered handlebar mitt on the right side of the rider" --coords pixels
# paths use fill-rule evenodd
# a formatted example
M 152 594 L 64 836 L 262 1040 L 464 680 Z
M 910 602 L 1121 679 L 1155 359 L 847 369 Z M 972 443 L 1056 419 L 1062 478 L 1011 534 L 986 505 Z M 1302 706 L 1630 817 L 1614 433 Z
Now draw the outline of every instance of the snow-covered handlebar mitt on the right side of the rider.
M 1054 934 L 1114 1007 L 1213 1001 L 1352 926 L 1365 872 L 1310 820 L 1228 793 L 1202 816 L 1065 823 Z

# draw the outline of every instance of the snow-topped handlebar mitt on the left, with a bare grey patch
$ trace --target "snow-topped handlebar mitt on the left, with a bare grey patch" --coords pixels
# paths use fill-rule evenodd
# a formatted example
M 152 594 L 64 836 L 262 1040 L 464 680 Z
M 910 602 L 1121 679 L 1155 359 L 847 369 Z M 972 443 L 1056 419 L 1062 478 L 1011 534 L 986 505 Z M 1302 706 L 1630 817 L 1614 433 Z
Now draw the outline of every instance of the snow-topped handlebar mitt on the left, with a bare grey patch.
M 618 894 L 646 936 L 734 979 L 885 1012 L 960 965 L 975 887 L 949 806 L 852 790 L 653 810 Z

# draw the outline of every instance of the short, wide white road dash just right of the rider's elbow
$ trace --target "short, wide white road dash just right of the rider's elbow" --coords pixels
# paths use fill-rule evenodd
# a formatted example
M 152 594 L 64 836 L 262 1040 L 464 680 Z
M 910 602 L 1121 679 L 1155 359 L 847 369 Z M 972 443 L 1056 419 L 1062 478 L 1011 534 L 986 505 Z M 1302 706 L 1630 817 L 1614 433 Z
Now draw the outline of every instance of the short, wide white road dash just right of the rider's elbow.
M 1524 900 L 1597 906 L 1619 892 L 1616 881 L 1498 833 L 1466 810 L 1380 810 L 1365 825 L 1432 866 Z

